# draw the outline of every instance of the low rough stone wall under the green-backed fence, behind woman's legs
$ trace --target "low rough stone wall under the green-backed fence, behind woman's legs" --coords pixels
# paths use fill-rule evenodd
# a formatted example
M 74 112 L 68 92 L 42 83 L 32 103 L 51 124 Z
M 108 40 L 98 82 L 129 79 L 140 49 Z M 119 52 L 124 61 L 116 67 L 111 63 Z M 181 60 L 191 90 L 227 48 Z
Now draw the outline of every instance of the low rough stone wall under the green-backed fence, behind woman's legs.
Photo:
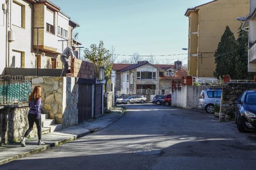
M 3 143 L 19 142 L 28 129 L 28 104 L 8 105 L 0 108 L 0 145 Z M 37 136 L 34 124 L 29 137 Z

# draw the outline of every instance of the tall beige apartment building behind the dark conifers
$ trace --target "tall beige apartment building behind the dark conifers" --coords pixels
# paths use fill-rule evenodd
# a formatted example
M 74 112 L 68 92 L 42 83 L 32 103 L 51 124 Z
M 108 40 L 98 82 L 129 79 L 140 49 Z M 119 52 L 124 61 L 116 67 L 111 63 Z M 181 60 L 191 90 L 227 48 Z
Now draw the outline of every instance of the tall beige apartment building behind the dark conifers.
M 214 77 L 214 53 L 226 25 L 238 37 L 241 22 L 237 17 L 249 13 L 250 0 L 213 0 L 187 9 L 188 74 L 195 77 Z M 232 62 L 232 61 L 231 61 Z

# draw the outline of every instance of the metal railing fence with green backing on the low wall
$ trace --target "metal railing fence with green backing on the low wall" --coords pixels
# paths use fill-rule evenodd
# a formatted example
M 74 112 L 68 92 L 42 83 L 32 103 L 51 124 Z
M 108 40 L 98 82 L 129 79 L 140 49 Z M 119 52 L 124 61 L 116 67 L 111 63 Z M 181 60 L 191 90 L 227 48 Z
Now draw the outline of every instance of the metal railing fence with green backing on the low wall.
M 26 102 L 31 92 L 31 77 L 0 75 L 0 104 Z

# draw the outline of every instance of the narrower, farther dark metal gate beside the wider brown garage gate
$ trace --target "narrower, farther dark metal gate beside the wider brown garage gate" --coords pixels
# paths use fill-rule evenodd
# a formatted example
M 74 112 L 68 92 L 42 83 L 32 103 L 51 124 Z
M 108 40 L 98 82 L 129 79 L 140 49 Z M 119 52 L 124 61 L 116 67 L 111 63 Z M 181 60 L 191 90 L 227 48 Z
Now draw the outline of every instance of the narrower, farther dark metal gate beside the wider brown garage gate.
M 95 84 L 95 117 L 101 114 L 102 109 L 102 84 Z

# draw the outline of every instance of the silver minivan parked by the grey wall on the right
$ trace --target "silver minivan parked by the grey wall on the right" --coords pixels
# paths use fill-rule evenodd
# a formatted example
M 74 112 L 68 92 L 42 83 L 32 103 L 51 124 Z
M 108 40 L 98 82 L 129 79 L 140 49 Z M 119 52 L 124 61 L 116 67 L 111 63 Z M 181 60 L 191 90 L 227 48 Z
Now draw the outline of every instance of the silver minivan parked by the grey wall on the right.
M 204 109 L 207 113 L 214 112 L 214 104 L 220 106 L 222 89 L 202 90 L 199 97 L 198 109 Z

